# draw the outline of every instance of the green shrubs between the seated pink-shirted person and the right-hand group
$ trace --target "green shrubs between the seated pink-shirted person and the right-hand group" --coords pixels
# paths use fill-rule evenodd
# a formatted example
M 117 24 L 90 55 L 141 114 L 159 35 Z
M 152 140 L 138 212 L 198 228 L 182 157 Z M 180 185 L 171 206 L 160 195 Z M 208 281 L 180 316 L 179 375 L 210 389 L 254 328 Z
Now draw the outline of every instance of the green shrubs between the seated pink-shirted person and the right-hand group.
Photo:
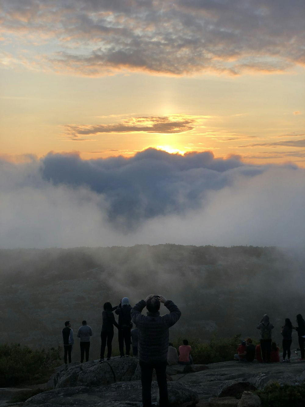
M 192 358 L 196 364 L 207 364 L 225 362 L 233 359 L 238 344 L 240 344 L 241 334 L 234 335 L 231 338 L 217 338 L 214 333 L 207 344 L 200 343 L 198 338 L 188 337 L 189 344 L 192 346 Z M 177 338 L 174 346 L 178 349 L 184 338 Z

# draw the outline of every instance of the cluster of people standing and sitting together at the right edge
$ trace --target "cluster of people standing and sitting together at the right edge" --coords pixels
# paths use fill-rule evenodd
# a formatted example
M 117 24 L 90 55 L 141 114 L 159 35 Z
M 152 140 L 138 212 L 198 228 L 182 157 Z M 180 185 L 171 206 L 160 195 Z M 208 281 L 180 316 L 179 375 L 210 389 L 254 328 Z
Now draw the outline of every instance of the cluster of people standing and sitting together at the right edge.
M 298 359 L 298 361 L 305 361 L 305 321 L 301 314 L 296 315 L 296 322 L 298 326 L 292 326 L 290 319 L 286 318 L 285 324 L 282 326 L 281 335 L 283 335 L 283 363 L 286 362 L 286 355 L 287 362 L 290 363 L 290 347 L 292 344 L 293 329 L 295 329 L 298 333 L 298 344 L 301 350 L 301 358 Z M 237 349 L 237 354 L 234 355 L 234 358 L 239 361 L 252 362 L 256 357 L 258 361 L 263 363 L 279 362 L 279 348 L 275 342 L 272 342 L 273 328 L 274 325 L 269 321 L 269 316 L 265 314 L 257 325 L 257 329 L 261 331 L 260 344 L 255 347 L 252 344 L 251 338 L 242 341 Z

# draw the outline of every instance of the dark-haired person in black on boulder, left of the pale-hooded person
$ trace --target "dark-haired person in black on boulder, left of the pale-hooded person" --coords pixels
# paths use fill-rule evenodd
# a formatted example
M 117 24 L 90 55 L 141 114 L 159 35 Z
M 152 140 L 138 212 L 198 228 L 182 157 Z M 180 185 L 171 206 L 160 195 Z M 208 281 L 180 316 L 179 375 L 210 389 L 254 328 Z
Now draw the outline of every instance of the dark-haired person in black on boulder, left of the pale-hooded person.
M 104 362 L 104 354 L 107 342 L 107 361 L 111 359 L 112 353 L 112 339 L 113 339 L 113 325 L 119 329 L 117 322 L 115 321 L 113 312 L 118 306 L 112 307 L 110 302 L 105 302 L 104 311 L 102 312 L 102 330 L 100 333 L 100 363 Z

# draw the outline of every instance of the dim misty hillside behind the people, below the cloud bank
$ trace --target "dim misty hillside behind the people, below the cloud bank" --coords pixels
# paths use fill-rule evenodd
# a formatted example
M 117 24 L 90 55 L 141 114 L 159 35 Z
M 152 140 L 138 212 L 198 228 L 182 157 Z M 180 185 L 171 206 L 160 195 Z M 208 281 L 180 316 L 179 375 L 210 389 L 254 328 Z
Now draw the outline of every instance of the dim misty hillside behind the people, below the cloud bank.
M 173 300 L 182 317 L 171 335 L 203 340 L 212 332 L 258 339 L 256 325 L 268 313 L 279 343 L 284 319 L 305 313 L 303 258 L 276 247 L 1 249 L 0 273 L 2 342 L 61 345 L 65 320 L 77 331 L 86 319 L 92 357 L 99 354 L 104 302 L 124 296 L 131 305 L 150 293 Z M 76 345 L 78 352 L 78 339 Z

